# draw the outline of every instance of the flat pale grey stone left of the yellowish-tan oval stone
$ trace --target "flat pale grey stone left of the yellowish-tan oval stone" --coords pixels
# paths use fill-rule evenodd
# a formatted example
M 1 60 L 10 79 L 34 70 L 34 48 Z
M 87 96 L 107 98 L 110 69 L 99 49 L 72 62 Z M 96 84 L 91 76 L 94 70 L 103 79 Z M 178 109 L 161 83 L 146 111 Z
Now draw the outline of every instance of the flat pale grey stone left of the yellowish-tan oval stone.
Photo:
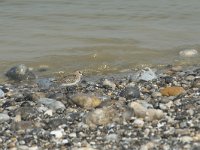
M 66 109 L 65 105 L 62 102 L 50 98 L 40 98 L 38 100 L 38 103 L 43 104 L 52 110 Z

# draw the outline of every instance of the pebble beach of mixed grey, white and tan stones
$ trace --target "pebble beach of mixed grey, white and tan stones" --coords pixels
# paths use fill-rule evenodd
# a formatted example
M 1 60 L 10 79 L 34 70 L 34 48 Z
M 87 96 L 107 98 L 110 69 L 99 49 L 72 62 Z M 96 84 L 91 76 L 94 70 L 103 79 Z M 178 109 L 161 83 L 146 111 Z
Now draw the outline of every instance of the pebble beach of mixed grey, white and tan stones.
M 42 70 L 45 71 L 45 70 Z M 200 66 L 37 77 L 23 64 L 0 85 L 2 150 L 200 149 Z

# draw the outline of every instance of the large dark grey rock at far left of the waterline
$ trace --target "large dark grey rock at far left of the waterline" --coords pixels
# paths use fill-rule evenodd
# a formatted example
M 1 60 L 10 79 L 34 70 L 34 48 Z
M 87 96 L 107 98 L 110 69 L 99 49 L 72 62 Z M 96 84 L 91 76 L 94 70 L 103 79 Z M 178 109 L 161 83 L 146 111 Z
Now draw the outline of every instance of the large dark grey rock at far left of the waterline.
M 15 81 L 32 80 L 36 78 L 36 75 L 24 64 L 12 67 L 6 72 L 6 76 Z

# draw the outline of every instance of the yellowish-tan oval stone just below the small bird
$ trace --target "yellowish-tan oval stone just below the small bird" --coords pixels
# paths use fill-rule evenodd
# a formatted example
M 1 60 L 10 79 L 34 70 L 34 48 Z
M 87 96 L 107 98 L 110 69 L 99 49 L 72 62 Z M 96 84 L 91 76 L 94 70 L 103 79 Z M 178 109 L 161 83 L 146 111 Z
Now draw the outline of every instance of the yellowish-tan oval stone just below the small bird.
M 86 109 L 96 108 L 101 104 L 98 97 L 89 94 L 78 93 L 72 96 L 71 99 L 73 103 Z

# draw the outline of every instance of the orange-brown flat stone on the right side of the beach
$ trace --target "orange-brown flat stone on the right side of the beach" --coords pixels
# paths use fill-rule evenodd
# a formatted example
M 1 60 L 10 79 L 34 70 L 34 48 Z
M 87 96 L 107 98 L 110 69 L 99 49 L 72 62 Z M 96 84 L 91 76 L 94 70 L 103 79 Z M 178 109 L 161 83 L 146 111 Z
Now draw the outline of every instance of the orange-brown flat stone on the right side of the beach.
M 180 95 L 181 93 L 184 93 L 185 90 L 182 87 L 166 87 L 164 89 L 160 90 L 160 93 L 163 96 L 176 96 L 176 95 Z

